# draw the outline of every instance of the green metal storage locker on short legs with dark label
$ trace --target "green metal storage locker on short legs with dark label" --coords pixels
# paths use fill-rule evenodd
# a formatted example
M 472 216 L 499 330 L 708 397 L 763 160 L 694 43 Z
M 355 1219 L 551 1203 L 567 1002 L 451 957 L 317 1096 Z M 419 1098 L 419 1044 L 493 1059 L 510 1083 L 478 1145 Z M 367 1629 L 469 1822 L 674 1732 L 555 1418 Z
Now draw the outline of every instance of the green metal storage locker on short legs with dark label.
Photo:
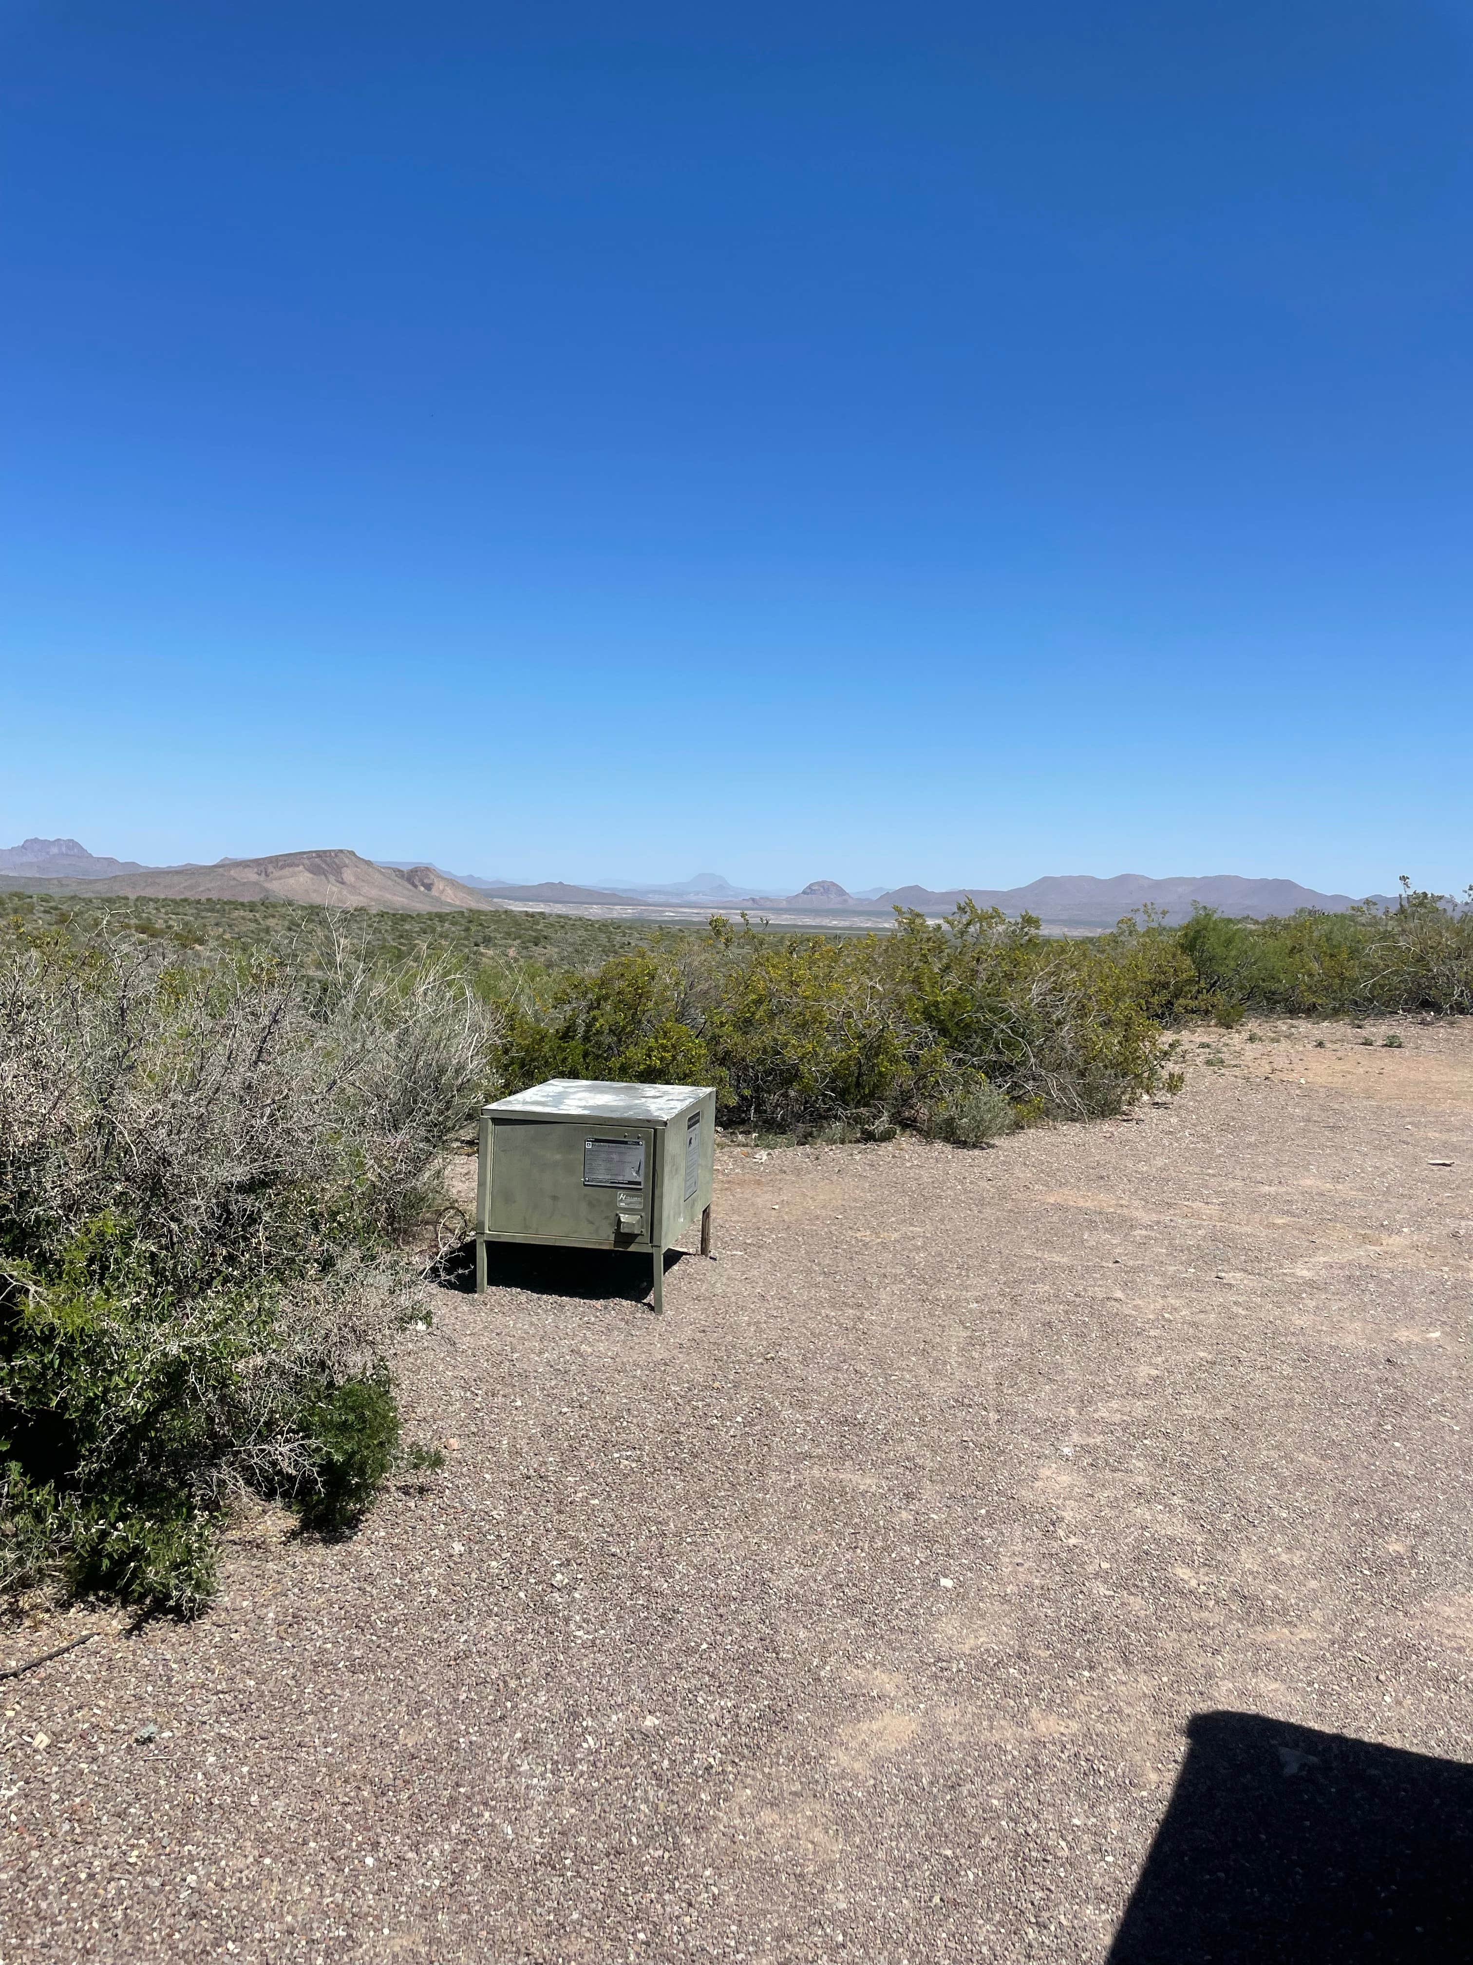
M 664 1260 L 701 1222 L 711 1254 L 711 1085 L 609 1085 L 548 1079 L 481 1108 L 475 1183 L 475 1289 L 487 1242 L 648 1250 L 654 1307 Z

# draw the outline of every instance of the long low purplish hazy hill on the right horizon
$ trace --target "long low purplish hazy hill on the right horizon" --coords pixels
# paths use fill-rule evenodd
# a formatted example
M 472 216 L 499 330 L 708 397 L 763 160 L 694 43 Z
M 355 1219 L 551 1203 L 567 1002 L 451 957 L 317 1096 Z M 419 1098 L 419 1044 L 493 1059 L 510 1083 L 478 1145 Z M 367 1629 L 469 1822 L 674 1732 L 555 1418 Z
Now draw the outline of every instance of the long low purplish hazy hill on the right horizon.
M 1343 914 L 1353 908 L 1349 894 L 1316 894 L 1296 880 L 1245 880 L 1235 872 L 1182 874 L 1174 880 L 1151 880 L 1143 872 L 1119 872 L 1100 880 L 1088 872 L 1049 874 L 1027 886 L 1008 888 L 947 888 L 898 886 L 880 896 L 886 908 L 919 908 L 937 914 L 972 898 L 980 908 L 1002 908 L 1004 914 L 1037 914 L 1045 922 L 1064 926 L 1108 927 L 1133 908 L 1161 908 L 1169 920 L 1182 922 L 1194 906 L 1218 908 L 1222 914 L 1245 914 L 1263 920 L 1269 914 L 1294 914 L 1296 908 L 1318 908 L 1324 914 Z M 1381 898 L 1381 896 L 1375 896 Z

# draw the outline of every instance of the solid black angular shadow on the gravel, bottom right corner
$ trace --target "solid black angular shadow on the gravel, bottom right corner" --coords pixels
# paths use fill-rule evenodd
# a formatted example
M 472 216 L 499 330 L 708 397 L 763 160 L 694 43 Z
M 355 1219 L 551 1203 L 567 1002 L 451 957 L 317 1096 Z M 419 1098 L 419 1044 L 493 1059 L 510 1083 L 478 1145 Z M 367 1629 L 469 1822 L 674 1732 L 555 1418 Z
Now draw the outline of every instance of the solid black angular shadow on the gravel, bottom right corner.
M 1473 1767 L 1198 1713 L 1108 1965 L 1469 1965 Z

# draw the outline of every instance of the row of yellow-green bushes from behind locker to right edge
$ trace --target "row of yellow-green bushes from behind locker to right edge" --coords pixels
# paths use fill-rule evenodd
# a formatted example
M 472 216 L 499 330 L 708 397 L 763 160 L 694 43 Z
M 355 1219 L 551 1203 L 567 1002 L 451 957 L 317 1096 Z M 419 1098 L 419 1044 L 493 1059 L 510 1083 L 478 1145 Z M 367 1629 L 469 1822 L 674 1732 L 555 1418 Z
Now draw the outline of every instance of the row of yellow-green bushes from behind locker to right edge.
M 499 1089 L 546 1077 L 715 1085 L 731 1126 L 978 1146 L 1100 1118 L 1176 1083 L 1169 1034 L 1249 1010 L 1473 1008 L 1473 910 L 1396 908 L 1180 927 L 1143 912 L 1057 939 L 962 902 L 888 935 L 788 935 L 713 918 L 585 971 L 505 971 Z

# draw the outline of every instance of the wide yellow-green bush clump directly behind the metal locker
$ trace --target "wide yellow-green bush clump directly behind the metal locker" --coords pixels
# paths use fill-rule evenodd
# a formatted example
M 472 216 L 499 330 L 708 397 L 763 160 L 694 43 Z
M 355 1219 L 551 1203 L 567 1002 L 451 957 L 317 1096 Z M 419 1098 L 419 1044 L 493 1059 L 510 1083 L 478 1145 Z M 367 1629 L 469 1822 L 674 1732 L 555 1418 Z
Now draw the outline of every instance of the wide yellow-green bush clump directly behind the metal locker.
M 1186 969 L 1190 975 L 1190 967 Z M 964 904 L 894 935 L 772 935 L 713 920 L 524 988 L 497 1053 L 544 1077 L 715 1085 L 729 1124 L 958 1144 L 1021 1118 L 1116 1112 L 1157 1083 L 1161 1030 L 1131 967 Z

